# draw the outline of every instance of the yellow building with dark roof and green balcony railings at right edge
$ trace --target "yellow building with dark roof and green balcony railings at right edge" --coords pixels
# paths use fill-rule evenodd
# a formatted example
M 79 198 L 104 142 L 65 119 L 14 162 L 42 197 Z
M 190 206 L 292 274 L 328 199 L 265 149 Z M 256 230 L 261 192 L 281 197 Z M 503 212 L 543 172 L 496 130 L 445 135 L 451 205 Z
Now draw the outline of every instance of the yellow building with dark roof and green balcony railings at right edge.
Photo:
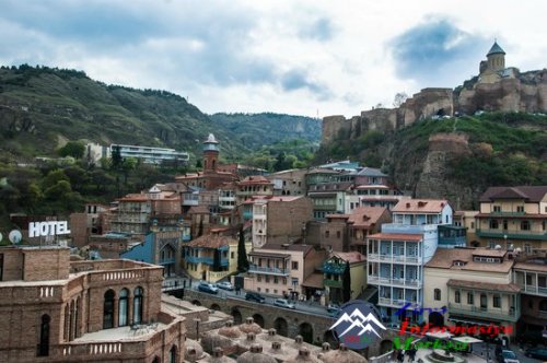
M 547 248 L 547 186 L 491 187 L 480 197 L 476 235 L 481 246 Z

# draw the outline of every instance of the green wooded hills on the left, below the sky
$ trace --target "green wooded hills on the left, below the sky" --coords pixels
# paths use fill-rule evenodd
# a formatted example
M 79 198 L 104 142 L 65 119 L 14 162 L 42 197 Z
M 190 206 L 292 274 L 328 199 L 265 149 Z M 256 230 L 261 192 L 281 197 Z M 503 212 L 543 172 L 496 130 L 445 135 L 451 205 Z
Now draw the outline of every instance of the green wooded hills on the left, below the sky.
M 321 122 L 277 114 L 202 114 L 165 91 L 106 85 L 84 72 L 47 67 L 0 68 L 3 160 L 54 156 L 67 140 L 168 147 L 200 154 L 213 132 L 224 157 L 304 138 L 318 142 Z

